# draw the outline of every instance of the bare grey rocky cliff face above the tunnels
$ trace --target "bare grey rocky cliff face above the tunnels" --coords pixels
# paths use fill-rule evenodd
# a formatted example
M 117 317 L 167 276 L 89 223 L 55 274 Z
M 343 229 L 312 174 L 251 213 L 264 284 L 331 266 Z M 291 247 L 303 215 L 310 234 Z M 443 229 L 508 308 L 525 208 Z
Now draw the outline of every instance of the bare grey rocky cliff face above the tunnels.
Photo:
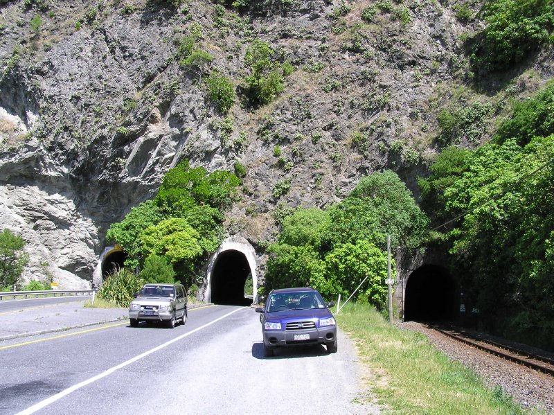
M 461 24 L 454 3 L 268 1 L 238 14 L 207 0 L 1 1 L 0 222 L 28 241 L 26 276 L 87 285 L 109 224 L 184 158 L 247 168 L 226 229 L 255 246 L 285 209 L 340 200 L 373 171 L 415 190 L 437 108 L 473 94 L 459 91 L 459 38 L 478 22 Z M 224 116 L 179 65 L 186 35 L 238 90 L 253 39 L 294 71 L 273 102 L 239 94 Z

